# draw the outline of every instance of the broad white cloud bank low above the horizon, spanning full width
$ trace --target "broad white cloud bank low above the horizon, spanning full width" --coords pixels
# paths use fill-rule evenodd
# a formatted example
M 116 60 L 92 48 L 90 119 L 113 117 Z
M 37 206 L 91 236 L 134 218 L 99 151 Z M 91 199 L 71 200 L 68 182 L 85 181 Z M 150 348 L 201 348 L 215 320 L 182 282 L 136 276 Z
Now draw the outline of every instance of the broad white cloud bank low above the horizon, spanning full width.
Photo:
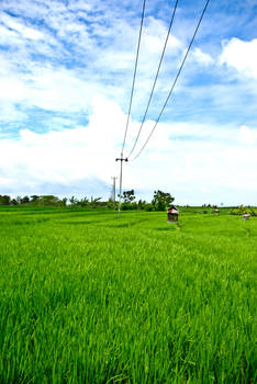
M 82 194 L 87 180 L 107 185 L 111 176 L 119 176 L 114 160 L 120 156 L 125 120 L 118 104 L 97 97 L 88 126 L 45 134 L 22 129 L 19 139 L 0 140 L 0 188 L 5 193 L 45 193 L 44 185 L 51 184 L 52 193 L 62 194 L 65 189 L 66 194 L 72 194 L 79 185 Z M 147 122 L 146 131 L 152 124 Z M 137 128 L 138 123 L 132 122 L 126 149 Z M 222 193 L 233 190 L 233 202 L 239 204 L 242 193 L 257 192 L 253 178 L 257 154 L 248 138 L 247 143 L 242 139 L 242 134 L 249 132 L 256 140 L 256 131 L 248 127 L 235 132 L 230 126 L 220 129 L 204 124 L 159 124 L 142 156 L 124 166 L 124 188 L 176 191 L 177 200 L 191 191 L 189 202 L 213 201 L 219 188 L 222 192 L 214 202 L 224 201 Z M 108 197 L 108 187 L 105 192 L 101 188 L 97 194 L 105 193 Z

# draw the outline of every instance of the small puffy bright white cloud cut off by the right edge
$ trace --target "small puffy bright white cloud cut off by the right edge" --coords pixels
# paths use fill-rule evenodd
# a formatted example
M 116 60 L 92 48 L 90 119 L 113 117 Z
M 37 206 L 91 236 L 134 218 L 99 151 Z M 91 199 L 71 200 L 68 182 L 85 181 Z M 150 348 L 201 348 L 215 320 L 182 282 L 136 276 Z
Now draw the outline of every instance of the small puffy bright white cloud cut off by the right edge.
M 224 42 L 220 64 L 226 64 L 238 72 L 257 79 L 257 38 L 244 42 L 233 37 Z

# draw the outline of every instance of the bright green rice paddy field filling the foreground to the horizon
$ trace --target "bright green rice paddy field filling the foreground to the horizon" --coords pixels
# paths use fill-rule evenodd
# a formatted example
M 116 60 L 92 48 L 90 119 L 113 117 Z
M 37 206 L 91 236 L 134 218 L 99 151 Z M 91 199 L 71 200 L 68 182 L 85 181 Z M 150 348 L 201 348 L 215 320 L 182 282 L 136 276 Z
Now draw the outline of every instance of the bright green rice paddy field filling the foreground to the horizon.
M 0 210 L 0 383 L 256 383 L 257 218 Z

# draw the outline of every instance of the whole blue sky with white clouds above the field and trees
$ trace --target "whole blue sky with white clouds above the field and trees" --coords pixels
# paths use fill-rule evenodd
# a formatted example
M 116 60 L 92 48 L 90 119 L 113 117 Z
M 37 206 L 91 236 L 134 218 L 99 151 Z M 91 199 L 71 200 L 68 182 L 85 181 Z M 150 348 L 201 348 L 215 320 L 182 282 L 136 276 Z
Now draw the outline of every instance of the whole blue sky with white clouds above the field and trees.
M 203 0 L 179 0 L 144 145 Z M 119 177 L 142 0 L 0 1 L 0 194 L 101 196 Z M 146 0 L 124 156 L 149 98 L 175 0 Z M 150 201 L 257 205 L 257 0 L 211 0 L 175 91 L 123 188 Z

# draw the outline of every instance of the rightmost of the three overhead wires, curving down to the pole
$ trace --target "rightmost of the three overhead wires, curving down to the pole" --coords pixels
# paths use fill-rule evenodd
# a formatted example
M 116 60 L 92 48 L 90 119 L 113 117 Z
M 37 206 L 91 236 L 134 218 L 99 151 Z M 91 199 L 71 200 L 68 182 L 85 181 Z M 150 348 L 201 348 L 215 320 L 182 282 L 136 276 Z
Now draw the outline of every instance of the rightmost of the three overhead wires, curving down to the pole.
M 202 14 L 201 14 L 201 18 L 200 18 L 200 20 L 199 20 L 199 22 L 198 22 L 198 25 L 197 25 L 197 27 L 195 27 L 195 30 L 194 30 L 194 33 L 193 33 L 193 36 L 192 36 L 192 38 L 191 38 L 191 42 L 190 42 L 190 44 L 189 44 L 189 46 L 188 46 L 188 49 L 187 49 L 187 52 L 186 52 L 186 55 L 185 55 L 185 57 L 183 57 L 183 59 L 182 59 L 182 63 L 181 63 L 181 65 L 180 65 L 180 67 L 179 67 L 178 74 L 177 74 L 177 76 L 176 76 L 176 78 L 175 78 L 175 80 L 174 80 L 172 87 L 171 87 L 171 89 L 170 89 L 170 91 L 169 91 L 169 93 L 168 93 L 168 97 L 167 97 L 167 99 L 166 99 L 166 101 L 165 101 L 165 103 L 164 103 L 164 106 L 161 108 L 160 113 L 159 113 L 159 115 L 158 115 L 158 117 L 157 117 L 157 120 L 156 120 L 156 122 L 155 122 L 155 125 L 154 125 L 153 129 L 150 131 L 150 133 L 149 133 L 149 135 L 148 135 L 148 137 L 147 137 L 147 139 L 146 139 L 146 142 L 145 142 L 145 144 L 143 145 L 143 147 L 141 148 L 141 150 L 137 153 L 137 155 L 134 156 L 134 157 L 131 159 L 131 161 L 135 160 L 135 159 L 142 154 L 142 151 L 143 151 L 144 148 L 146 147 L 147 143 L 149 142 L 149 139 L 150 139 L 150 137 L 152 137 L 152 135 L 153 135 L 153 133 L 154 133 L 154 131 L 155 131 L 157 124 L 159 123 L 159 120 L 160 120 L 160 117 L 161 117 L 161 115 L 163 115 L 163 113 L 164 113 L 164 111 L 165 111 L 165 109 L 166 109 L 166 105 L 167 105 L 167 103 L 168 103 L 168 101 L 169 101 L 169 99 L 170 99 L 170 97 L 171 97 L 171 94 L 172 94 L 172 92 L 174 92 L 175 86 L 176 86 L 177 80 L 178 80 L 178 78 L 179 78 L 179 76 L 180 76 L 180 72 L 181 72 L 181 70 L 182 70 L 182 68 L 183 68 L 183 65 L 185 65 L 185 61 L 186 61 L 186 59 L 187 59 L 187 57 L 188 57 L 189 50 L 190 50 L 190 48 L 191 48 L 191 46 L 192 46 L 192 44 L 193 44 L 194 37 L 195 37 L 197 33 L 198 33 L 199 26 L 200 26 L 200 24 L 201 24 L 201 22 L 202 22 L 202 19 L 203 19 L 203 15 L 204 15 L 205 11 L 206 11 L 206 8 L 208 8 L 209 2 L 210 2 L 210 0 L 206 0 L 205 5 L 204 5 L 203 11 L 202 11 Z

